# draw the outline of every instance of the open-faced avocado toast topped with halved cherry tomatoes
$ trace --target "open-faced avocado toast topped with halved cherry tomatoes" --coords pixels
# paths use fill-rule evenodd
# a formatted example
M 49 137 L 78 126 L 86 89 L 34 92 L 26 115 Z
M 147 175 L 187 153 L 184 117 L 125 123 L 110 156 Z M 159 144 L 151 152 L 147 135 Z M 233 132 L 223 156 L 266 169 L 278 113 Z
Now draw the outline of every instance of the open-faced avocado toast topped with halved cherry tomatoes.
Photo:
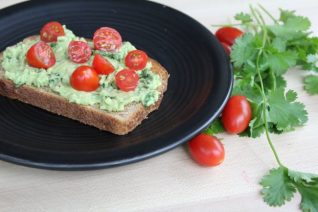
M 0 95 L 124 135 L 158 109 L 168 72 L 118 31 L 93 40 L 59 22 L 0 54 Z

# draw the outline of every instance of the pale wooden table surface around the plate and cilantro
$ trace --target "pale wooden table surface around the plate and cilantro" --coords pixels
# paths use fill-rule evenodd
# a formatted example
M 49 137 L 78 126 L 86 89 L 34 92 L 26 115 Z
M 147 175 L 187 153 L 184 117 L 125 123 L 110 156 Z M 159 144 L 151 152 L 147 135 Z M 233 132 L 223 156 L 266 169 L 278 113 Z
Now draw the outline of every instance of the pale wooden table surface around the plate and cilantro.
M 5 7 L 19 0 L 0 0 Z M 197 19 L 207 28 L 226 23 L 247 0 L 157 0 Z M 278 8 L 295 9 L 308 16 L 318 33 L 317 0 L 258 1 L 274 14 Z M 1 32 L 0 32 L 1 33 Z M 1 42 L 1 41 L 0 41 Z M 290 168 L 318 173 L 318 96 L 302 89 L 304 72 L 287 73 L 309 112 L 305 127 L 273 135 L 281 159 Z M 296 195 L 281 208 L 270 208 L 259 195 L 260 178 L 276 166 L 265 137 L 221 135 L 225 162 L 202 168 L 184 147 L 139 163 L 98 171 L 47 171 L 0 161 L 0 211 L 298 211 Z

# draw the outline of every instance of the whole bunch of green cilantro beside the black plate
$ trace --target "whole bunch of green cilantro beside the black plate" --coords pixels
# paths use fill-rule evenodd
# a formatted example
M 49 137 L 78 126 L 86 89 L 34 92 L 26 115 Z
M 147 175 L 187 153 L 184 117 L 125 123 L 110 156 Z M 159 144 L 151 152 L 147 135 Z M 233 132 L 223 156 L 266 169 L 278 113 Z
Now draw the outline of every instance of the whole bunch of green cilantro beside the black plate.
M 264 16 L 271 22 L 266 23 Z M 239 13 L 235 19 L 245 34 L 235 41 L 230 55 L 233 95 L 246 96 L 253 110 L 249 127 L 240 135 L 256 138 L 265 133 L 279 165 L 261 180 L 264 201 L 281 206 L 298 191 L 301 209 L 318 211 L 318 176 L 284 166 L 270 138 L 270 133 L 295 130 L 308 120 L 304 104 L 297 101 L 295 91 L 287 89 L 283 75 L 293 67 L 311 70 L 304 88 L 309 94 L 318 94 L 318 38 L 311 36 L 309 19 L 294 11 L 280 10 L 276 19 L 262 6 L 250 7 L 249 14 Z M 205 132 L 223 131 L 221 121 L 216 120 Z

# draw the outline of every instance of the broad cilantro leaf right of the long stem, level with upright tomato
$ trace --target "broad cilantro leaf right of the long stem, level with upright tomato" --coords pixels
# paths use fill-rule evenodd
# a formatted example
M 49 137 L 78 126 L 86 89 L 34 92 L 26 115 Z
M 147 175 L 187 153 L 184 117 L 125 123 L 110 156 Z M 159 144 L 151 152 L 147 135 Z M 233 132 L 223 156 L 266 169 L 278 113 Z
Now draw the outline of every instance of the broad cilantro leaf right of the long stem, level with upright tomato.
M 295 92 L 284 93 L 283 88 L 270 92 L 268 103 L 270 105 L 270 121 L 275 125 L 278 131 L 290 131 L 295 127 L 302 126 L 307 120 L 307 111 L 302 103 L 294 102 L 291 95 Z

